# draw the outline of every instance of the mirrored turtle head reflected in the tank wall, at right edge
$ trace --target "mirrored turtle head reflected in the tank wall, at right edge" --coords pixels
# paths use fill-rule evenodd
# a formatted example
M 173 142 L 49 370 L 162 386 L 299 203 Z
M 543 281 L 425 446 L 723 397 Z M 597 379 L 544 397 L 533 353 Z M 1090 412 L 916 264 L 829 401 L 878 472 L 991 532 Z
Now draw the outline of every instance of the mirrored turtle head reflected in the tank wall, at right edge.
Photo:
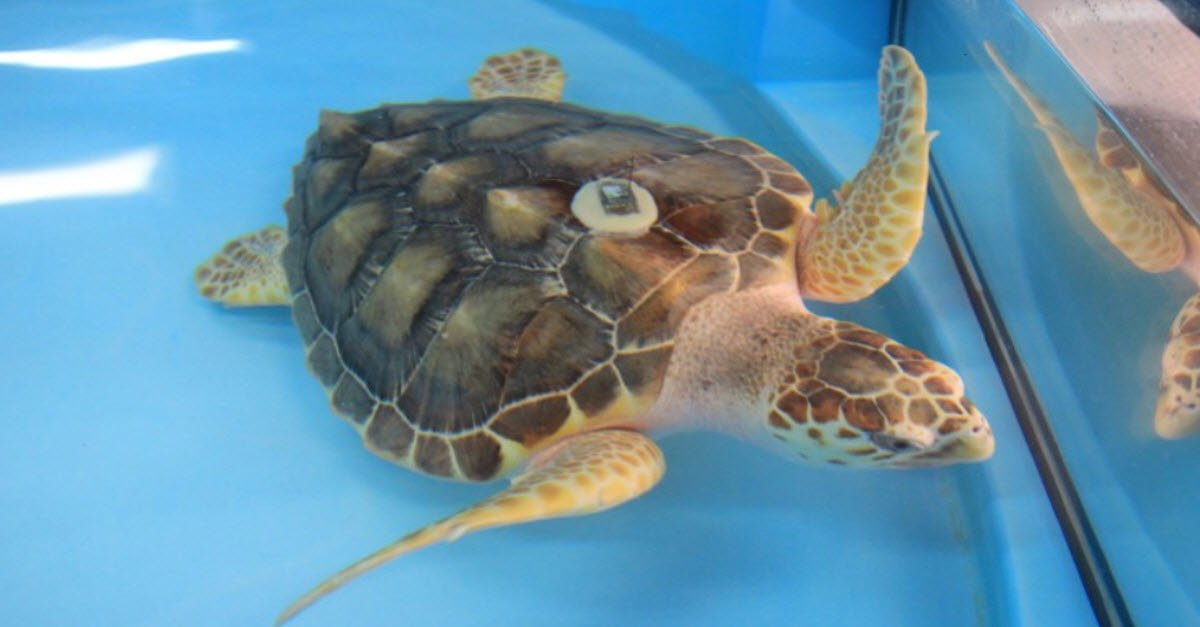
M 1200 431 L 1200 294 L 1188 299 L 1171 324 L 1154 431 L 1172 440 Z

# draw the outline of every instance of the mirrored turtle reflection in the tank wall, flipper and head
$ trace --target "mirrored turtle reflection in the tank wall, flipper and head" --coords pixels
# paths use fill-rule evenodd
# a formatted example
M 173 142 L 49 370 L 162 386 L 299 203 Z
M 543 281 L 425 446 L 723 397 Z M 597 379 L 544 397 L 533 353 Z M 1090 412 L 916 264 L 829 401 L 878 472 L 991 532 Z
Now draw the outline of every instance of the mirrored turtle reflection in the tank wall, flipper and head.
M 984 42 L 984 50 L 1033 114 L 1084 214 L 1105 239 L 1144 271 L 1181 270 L 1200 285 L 1200 229 L 1108 119 L 1097 112 L 1096 149 L 1090 153 L 991 42 Z M 1170 440 L 1200 432 L 1200 293 L 1183 304 L 1168 335 L 1154 431 Z

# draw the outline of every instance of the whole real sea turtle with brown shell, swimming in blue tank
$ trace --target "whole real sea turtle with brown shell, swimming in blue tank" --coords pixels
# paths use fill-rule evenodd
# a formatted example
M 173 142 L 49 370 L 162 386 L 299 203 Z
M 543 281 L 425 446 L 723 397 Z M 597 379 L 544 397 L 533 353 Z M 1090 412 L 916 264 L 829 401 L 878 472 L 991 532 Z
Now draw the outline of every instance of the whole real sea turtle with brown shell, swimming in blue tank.
M 647 435 L 712 429 L 797 459 L 908 467 L 988 458 L 949 368 L 810 314 L 905 265 L 920 235 L 925 82 L 880 68 L 868 166 L 821 201 L 738 138 L 558 102 L 557 59 L 487 59 L 473 101 L 320 114 L 288 227 L 197 270 L 227 305 L 288 305 L 308 368 L 371 450 L 460 480 L 515 474 L 304 596 L 433 542 L 587 514 L 664 472 Z

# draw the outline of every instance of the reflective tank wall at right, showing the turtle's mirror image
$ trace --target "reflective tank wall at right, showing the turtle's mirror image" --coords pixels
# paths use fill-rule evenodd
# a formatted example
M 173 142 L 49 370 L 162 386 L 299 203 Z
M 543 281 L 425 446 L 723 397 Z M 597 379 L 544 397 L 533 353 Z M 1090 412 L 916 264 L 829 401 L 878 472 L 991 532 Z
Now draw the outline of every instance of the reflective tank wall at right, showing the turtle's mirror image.
M 905 42 L 937 67 L 931 90 L 958 103 L 931 120 L 946 132 L 935 159 L 947 220 L 998 315 L 992 333 L 1010 342 L 1025 418 L 1044 422 L 1048 454 L 1061 452 L 1046 460 L 1066 472 L 1051 492 L 1081 506 L 1064 524 L 1092 571 L 1093 599 L 1114 620 L 1194 623 L 1200 553 L 1187 530 L 1200 441 L 1195 323 L 1184 315 L 1196 292 L 1195 223 L 1104 103 L 1007 5 L 908 4 Z M 1075 18 L 1094 19 L 1091 8 Z

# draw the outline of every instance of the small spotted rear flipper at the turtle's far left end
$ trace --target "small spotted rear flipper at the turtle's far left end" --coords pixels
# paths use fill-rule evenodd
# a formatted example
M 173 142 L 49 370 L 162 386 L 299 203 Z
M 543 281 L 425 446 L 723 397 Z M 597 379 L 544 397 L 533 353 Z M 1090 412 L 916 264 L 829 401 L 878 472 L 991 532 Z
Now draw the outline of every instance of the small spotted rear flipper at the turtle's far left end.
M 204 298 L 229 306 L 287 305 L 287 243 L 283 227 L 275 225 L 232 239 L 196 269 L 196 287 Z

